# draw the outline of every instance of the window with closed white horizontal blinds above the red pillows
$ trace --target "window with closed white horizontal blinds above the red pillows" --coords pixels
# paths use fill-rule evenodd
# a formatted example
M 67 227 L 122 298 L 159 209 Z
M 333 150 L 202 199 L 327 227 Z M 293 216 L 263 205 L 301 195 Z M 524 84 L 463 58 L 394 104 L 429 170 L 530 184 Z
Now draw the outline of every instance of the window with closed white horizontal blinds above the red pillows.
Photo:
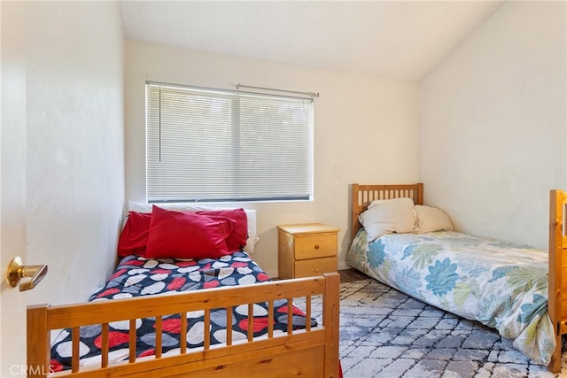
M 229 153 L 231 160 L 230 162 L 226 165 L 226 167 L 231 167 L 229 169 L 229 174 L 227 174 L 226 176 L 222 175 L 222 179 L 224 180 L 229 180 L 229 176 L 231 177 L 231 179 L 227 182 L 229 183 L 223 183 L 221 186 L 230 186 L 231 188 L 233 188 L 233 190 L 231 191 L 232 195 L 212 195 L 212 196 L 207 196 L 206 193 L 206 189 L 205 191 L 203 191 L 202 193 L 200 193 L 198 196 L 179 196 L 179 195 L 175 195 L 175 196 L 171 196 L 171 195 L 167 195 L 167 189 L 163 189 L 164 192 L 162 192 L 161 194 L 156 194 L 156 189 L 151 189 L 151 180 L 154 180 L 152 174 L 156 174 L 156 172 L 160 172 L 159 169 L 156 169 L 155 166 L 155 157 L 152 155 L 151 153 L 151 149 L 152 148 L 156 148 L 156 144 L 155 144 L 155 136 L 151 136 L 151 132 L 155 132 L 156 129 L 156 125 L 153 125 L 152 122 L 155 122 L 155 120 L 151 120 L 152 117 L 155 117 L 155 104 L 151 104 L 151 101 L 155 101 L 155 100 L 151 100 L 151 96 L 155 96 L 155 93 L 151 93 L 151 89 L 155 90 L 155 89 L 159 89 L 159 109 L 157 110 L 159 112 L 159 159 L 161 161 L 162 158 L 162 149 L 163 149 L 163 145 L 164 142 L 161 140 L 162 138 L 162 133 L 164 133 L 164 131 L 162 130 L 162 122 L 166 122 L 166 120 L 162 120 L 162 115 L 163 115 L 163 108 L 162 106 L 165 106 L 164 104 L 162 104 L 162 93 L 161 90 L 171 90 L 171 91 L 181 91 L 181 92 L 186 92 L 188 95 L 188 98 L 192 98 L 191 96 L 206 96 L 209 99 L 213 99 L 215 98 L 215 96 L 218 96 L 218 98 L 222 98 L 225 100 L 229 98 L 230 99 L 230 134 L 231 137 L 233 138 L 232 141 L 228 144 L 229 146 L 229 152 L 224 151 L 224 153 Z M 156 82 L 156 81 L 146 81 L 145 83 L 145 94 L 146 94 L 146 98 L 145 98 L 145 110 L 146 110 L 146 115 L 145 115 L 145 137 L 146 137 L 146 146 L 145 146 L 145 158 L 146 158 L 146 201 L 150 204 L 160 204 L 160 203 L 169 203 L 169 202 L 176 202 L 176 203 L 214 203 L 214 202 L 223 202 L 223 203 L 238 203 L 238 202 L 287 202 L 287 201 L 312 201 L 313 197 L 314 197 L 314 192 L 315 192 L 315 158 L 314 158 L 314 150 L 315 150 L 315 141 L 314 141 L 314 135 L 315 135 L 315 104 L 314 104 L 314 99 L 313 98 L 307 98 L 304 96 L 282 96 L 282 95 L 273 95 L 273 94 L 266 94 L 266 93 L 258 93 L 258 92 L 249 92 L 249 91 L 243 91 L 243 90 L 230 90 L 230 89 L 211 89 L 211 88 L 204 88 L 204 87 L 195 87 L 195 86 L 187 86 L 187 85 L 179 85 L 179 84 L 169 84 L 169 83 L 162 83 L 162 82 Z M 261 127 L 263 126 L 263 124 L 260 123 L 260 126 L 256 125 L 255 123 L 253 123 L 253 117 L 254 114 L 256 116 L 258 116 L 257 113 L 254 113 L 253 111 L 249 111 L 247 110 L 248 113 L 246 114 L 252 114 L 252 121 L 251 120 L 242 120 L 242 118 L 244 117 L 243 114 L 245 114 L 245 111 L 243 111 L 243 109 L 241 109 L 241 106 L 243 106 L 243 103 L 251 103 L 253 105 L 253 101 L 254 99 L 256 99 L 259 103 L 258 104 L 262 104 L 264 106 L 266 106 L 266 109 L 268 109 L 268 114 L 270 115 L 270 117 L 273 117 L 274 115 L 278 115 L 276 114 L 276 112 L 272 112 L 269 113 L 269 105 L 264 104 L 264 102 L 267 102 L 268 104 L 271 104 L 272 106 L 274 106 L 275 109 L 279 109 L 280 111 L 278 112 L 279 115 L 281 116 L 281 118 L 283 120 L 287 120 L 287 124 L 285 125 L 285 127 L 289 127 L 289 129 L 285 128 L 284 133 L 284 138 L 283 139 L 275 139 L 272 136 L 268 135 L 271 134 L 271 132 L 267 132 L 266 130 L 262 129 Z M 211 101 L 213 101 L 211 100 Z M 279 105 L 278 105 L 279 104 Z M 293 106 L 296 106 L 296 108 L 299 108 L 299 104 L 301 104 L 301 111 L 304 112 L 304 114 L 301 114 L 302 117 L 304 117 L 304 119 L 302 119 L 301 117 L 296 117 L 297 114 L 294 114 L 293 117 L 291 116 L 291 113 L 286 114 L 285 110 L 287 109 L 287 107 L 289 107 L 290 109 L 293 109 L 294 111 L 296 111 L 296 113 L 298 113 L 299 111 L 296 108 L 293 108 Z M 250 104 L 248 104 L 249 107 L 254 107 Z M 153 106 L 153 107 L 151 107 Z M 207 106 L 212 106 L 211 104 L 207 104 Z M 260 108 L 260 105 L 257 105 L 256 107 Z M 207 108 L 208 109 L 208 108 Z M 288 109 L 288 112 L 291 112 Z M 197 114 L 197 113 L 196 113 Z M 200 113 L 199 113 L 199 117 L 200 117 Z M 260 117 L 260 116 L 259 116 Z M 295 125 L 294 122 L 290 122 L 289 120 L 293 118 L 294 122 L 296 118 L 301 119 L 302 121 L 298 121 L 298 124 Z M 184 120 L 184 119 L 183 119 Z M 199 119 L 200 120 L 200 119 Z M 206 117 L 203 118 L 203 120 L 206 120 Z M 213 117 L 210 118 L 210 120 L 213 120 L 213 123 L 216 121 Z M 265 116 L 264 119 L 261 119 L 260 117 L 260 122 L 263 120 L 268 120 L 268 118 Z M 273 119 L 269 118 L 269 123 L 270 123 L 270 127 L 271 127 L 271 121 Z M 191 121 L 191 120 L 190 120 Z M 190 122 L 189 121 L 189 122 Z M 194 121 L 194 120 L 193 120 Z M 183 123 L 183 121 L 181 121 Z M 243 126 L 243 124 L 245 122 L 246 123 L 245 126 Z M 252 122 L 252 123 L 250 123 Z M 303 122 L 303 123 L 301 123 Z M 291 126 L 290 126 L 291 125 Z M 226 125 L 223 126 L 224 128 L 226 128 Z M 246 128 L 248 127 L 248 128 Z M 260 136 L 251 136 L 252 132 L 251 132 L 251 127 L 260 127 L 260 128 L 255 128 L 253 129 L 254 133 L 258 133 Z M 293 128 L 296 127 L 296 128 Z M 298 127 L 304 127 L 301 128 L 299 130 Z M 222 128 L 222 131 L 226 131 L 224 130 L 224 128 Z M 204 129 L 204 128 L 203 128 Z M 245 130 L 245 131 L 243 131 Z M 260 131 L 259 131 L 260 130 Z M 291 132 L 295 130 L 295 131 L 300 131 L 300 135 L 295 136 L 295 139 L 291 138 L 291 136 L 294 136 L 291 134 Z M 194 130 L 193 130 L 194 131 Z M 272 130 L 273 131 L 273 130 Z M 280 130 L 278 129 L 278 132 Z M 248 133 L 247 136 L 243 136 L 242 134 L 244 134 L 245 132 Z M 183 135 L 189 135 L 189 132 L 182 132 Z M 197 135 L 198 133 L 193 133 L 195 135 Z M 221 132 L 219 132 L 219 135 L 224 135 Z M 248 138 L 248 139 L 246 139 Z M 301 189 L 299 189 L 299 191 L 297 193 L 299 193 L 299 195 L 296 195 L 296 193 L 294 193 L 293 189 L 290 189 L 289 193 L 282 195 L 282 194 L 277 194 L 277 192 L 275 191 L 274 193 L 276 193 L 274 196 L 270 196 L 268 191 L 271 190 L 269 189 L 269 182 L 262 182 L 260 185 L 262 186 L 262 189 L 254 189 L 253 186 L 251 187 L 251 183 L 245 183 L 245 189 L 238 189 L 238 187 L 241 185 L 241 183 L 243 182 L 243 180 L 245 181 L 246 177 L 248 177 L 248 175 L 250 175 L 252 177 L 252 174 L 250 174 L 250 172 L 255 172 L 258 171 L 261 174 L 267 174 L 268 179 L 266 179 L 267 181 L 274 181 L 277 182 L 279 184 L 283 184 L 283 180 L 286 179 L 288 181 L 289 178 L 291 178 L 291 174 L 287 174 L 286 176 L 283 176 L 282 174 L 273 174 L 277 171 L 277 169 L 279 167 L 282 167 L 283 162 L 278 163 L 274 162 L 274 160 L 272 160 L 271 162 L 268 163 L 268 167 L 264 168 L 263 170 L 261 170 L 260 168 L 255 169 L 255 168 L 251 168 L 250 167 L 250 162 L 249 162 L 249 166 L 245 166 L 245 164 L 242 163 L 242 161 L 238 161 L 239 159 L 243 159 L 243 157 L 248 158 L 250 161 L 251 160 L 251 156 L 253 156 L 254 152 L 252 151 L 252 149 L 250 149 L 250 147 L 248 148 L 249 152 L 247 155 L 247 152 L 245 151 L 245 148 L 242 147 L 242 144 L 245 142 L 250 142 L 252 141 L 252 143 L 259 143 L 262 148 L 265 148 L 264 145 L 262 145 L 262 143 L 260 143 L 260 139 L 269 139 L 269 141 L 267 142 L 268 145 L 269 143 L 277 143 L 277 141 L 280 141 L 280 143 L 283 144 L 292 144 L 294 141 L 296 142 L 295 144 L 299 144 L 299 147 L 297 147 L 295 144 L 293 147 L 288 146 L 289 149 L 293 150 L 293 149 L 297 149 L 298 151 L 293 150 L 290 153 L 290 156 L 284 156 L 284 158 L 294 158 L 293 153 L 295 152 L 297 153 L 302 153 L 303 156 L 300 158 L 296 158 L 297 159 L 297 165 L 299 166 L 299 171 L 301 171 L 301 174 L 299 175 L 299 183 L 297 184 L 297 186 Z M 270 139 L 271 138 L 271 139 Z M 288 139 L 290 139 L 288 141 Z M 276 142 L 275 142 L 276 141 Z M 210 142 L 210 140 L 208 141 Z M 223 143 L 221 143 L 223 144 Z M 226 143 L 225 143 L 226 144 Z M 303 146 L 303 144 L 305 144 L 305 146 Z M 210 143 L 207 144 L 209 146 L 214 146 L 216 149 L 216 143 Z M 276 145 L 276 144 L 275 144 Z M 226 147 L 226 145 L 225 145 Z M 203 151 L 203 153 L 205 153 L 206 147 L 200 147 L 201 151 Z M 221 149 L 220 149 L 221 150 Z M 285 149 L 283 148 L 283 150 L 285 151 Z M 278 153 L 280 151 L 278 150 Z M 221 152 L 222 153 L 222 152 Z M 269 159 L 271 157 L 269 157 L 268 153 L 266 153 L 264 156 L 266 157 L 266 161 L 269 161 Z M 260 161 L 260 160 L 257 160 Z M 261 162 L 264 162 L 264 160 L 261 160 Z M 285 165 L 287 166 L 288 163 L 290 162 L 290 160 L 285 160 Z M 169 163 L 159 163 L 161 165 L 167 165 Z M 196 166 L 196 165 L 191 165 L 191 166 Z M 197 165 L 198 166 L 198 165 Z M 223 165 L 224 166 L 224 163 Z M 305 167 L 304 167 L 305 166 Z M 246 170 L 246 171 L 244 171 Z M 167 168 L 163 168 L 161 170 L 161 173 L 159 174 L 163 174 L 163 171 L 167 171 Z M 305 172 L 303 172 L 305 171 Z M 246 172 L 245 174 L 243 174 L 243 172 Z M 261 176 L 261 174 L 258 174 L 259 176 Z M 180 175 L 181 176 L 181 175 Z M 243 177 L 244 176 L 244 177 Z M 187 178 L 186 178 L 187 179 Z M 260 178 L 261 179 L 261 178 Z M 193 181 L 199 181 L 198 177 L 193 177 L 191 178 L 191 180 Z M 279 181 L 278 181 L 279 180 Z M 301 181 L 303 180 L 303 181 Z M 167 181 L 164 179 L 164 181 Z M 221 181 L 221 179 L 219 179 L 219 181 Z M 295 179 L 291 180 L 291 181 L 298 181 Z M 289 186 L 292 188 L 293 184 L 295 182 L 292 182 Z M 164 184 L 167 185 L 167 184 Z M 209 187 L 211 187 L 211 183 L 209 183 L 207 181 L 206 185 L 208 185 Z M 193 188 L 196 188 L 198 185 L 193 185 Z M 267 186 L 268 189 L 263 188 L 263 186 Z M 173 187 L 173 185 L 172 185 Z M 179 188 L 181 188 L 182 186 L 179 185 Z M 285 187 L 285 185 L 283 185 L 283 187 Z M 165 187 L 164 187 L 165 188 Z M 216 187 L 214 187 L 216 189 Z M 277 190 L 280 190 L 281 187 L 278 187 Z M 256 190 L 256 192 L 258 193 L 257 195 L 252 195 L 251 190 Z M 268 190 L 268 191 L 267 191 Z M 301 191 L 304 190 L 304 191 Z M 230 192 L 230 191 L 229 191 Z M 267 194 L 268 193 L 268 194 Z

